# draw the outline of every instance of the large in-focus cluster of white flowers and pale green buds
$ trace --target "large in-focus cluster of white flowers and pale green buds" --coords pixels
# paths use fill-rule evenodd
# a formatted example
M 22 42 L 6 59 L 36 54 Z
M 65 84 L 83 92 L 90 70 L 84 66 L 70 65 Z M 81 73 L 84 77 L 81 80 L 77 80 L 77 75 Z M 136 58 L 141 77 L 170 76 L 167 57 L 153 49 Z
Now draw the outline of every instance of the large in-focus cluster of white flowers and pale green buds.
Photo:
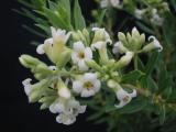
M 76 117 L 86 111 L 86 105 L 80 105 L 78 99 L 100 95 L 102 82 L 117 96 L 117 109 L 130 103 L 136 97 L 136 89 L 129 92 L 122 87 L 121 79 L 117 79 L 121 78 L 119 70 L 128 66 L 136 54 L 163 50 L 154 36 L 150 36 L 145 45 L 145 35 L 135 28 L 127 35 L 119 32 L 118 42 L 112 42 L 109 33 L 99 28 L 68 33 L 61 29 L 51 30 L 52 37 L 38 45 L 36 52 L 45 54 L 52 66 L 22 55 L 21 64 L 30 68 L 38 80 L 32 85 L 32 79 L 25 79 L 22 84 L 29 101 L 38 101 L 41 109 L 48 108 L 52 113 L 57 113 L 56 121 L 63 124 L 74 123 Z M 108 46 L 113 46 L 113 50 L 109 51 Z M 109 52 L 114 54 L 114 58 L 109 56 Z M 118 58 L 117 54 L 123 55 Z

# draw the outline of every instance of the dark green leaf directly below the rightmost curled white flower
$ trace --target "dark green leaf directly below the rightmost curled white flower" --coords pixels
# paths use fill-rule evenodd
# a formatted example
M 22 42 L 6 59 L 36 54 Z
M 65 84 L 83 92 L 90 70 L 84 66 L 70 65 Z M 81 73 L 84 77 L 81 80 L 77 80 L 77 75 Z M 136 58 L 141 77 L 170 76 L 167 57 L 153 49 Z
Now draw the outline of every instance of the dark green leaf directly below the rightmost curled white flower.
M 145 67 L 145 73 L 147 76 L 153 72 L 157 59 L 158 59 L 158 52 L 153 52 L 152 55 L 148 57 L 148 62 Z

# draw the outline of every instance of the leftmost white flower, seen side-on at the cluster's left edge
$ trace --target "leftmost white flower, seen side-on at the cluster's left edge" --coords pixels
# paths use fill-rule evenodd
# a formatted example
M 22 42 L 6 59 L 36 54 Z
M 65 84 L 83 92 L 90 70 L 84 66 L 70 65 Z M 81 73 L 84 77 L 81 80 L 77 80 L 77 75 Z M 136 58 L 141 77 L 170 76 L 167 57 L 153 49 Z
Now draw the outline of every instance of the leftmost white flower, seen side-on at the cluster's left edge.
M 24 86 L 24 91 L 25 91 L 26 96 L 29 96 L 32 91 L 31 81 L 32 81 L 31 78 L 28 78 L 28 79 L 22 81 L 22 85 Z

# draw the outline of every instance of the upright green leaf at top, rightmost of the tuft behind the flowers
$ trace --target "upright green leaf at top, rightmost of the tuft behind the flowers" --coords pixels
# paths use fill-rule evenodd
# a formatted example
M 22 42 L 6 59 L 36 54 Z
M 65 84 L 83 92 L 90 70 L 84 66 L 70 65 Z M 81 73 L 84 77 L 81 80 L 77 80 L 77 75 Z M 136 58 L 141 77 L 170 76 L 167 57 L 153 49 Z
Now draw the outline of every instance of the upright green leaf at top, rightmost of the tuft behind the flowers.
M 75 0 L 75 4 L 74 4 L 74 25 L 75 25 L 75 30 L 82 30 L 86 28 L 86 22 L 81 14 L 81 9 L 78 0 Z

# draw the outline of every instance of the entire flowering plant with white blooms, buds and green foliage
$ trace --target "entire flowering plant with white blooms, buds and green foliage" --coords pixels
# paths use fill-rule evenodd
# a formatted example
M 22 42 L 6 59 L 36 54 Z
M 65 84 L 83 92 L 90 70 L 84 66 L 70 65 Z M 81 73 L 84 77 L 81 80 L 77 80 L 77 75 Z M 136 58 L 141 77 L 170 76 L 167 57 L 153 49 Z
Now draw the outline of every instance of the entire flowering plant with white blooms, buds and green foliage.
M 15 11 L 37 30 L 24 28 L 44 40 L 36 53 L 50 61 L 19 57 L 34 75 L 22 81 L 30 103 L 66 125 L 90 108 L 87 120 L 106 123 L 107 131 L 175 131 L 174 0 L 90 0 L 97 7 L 91 21 L 81 0 L 19 2 Z

